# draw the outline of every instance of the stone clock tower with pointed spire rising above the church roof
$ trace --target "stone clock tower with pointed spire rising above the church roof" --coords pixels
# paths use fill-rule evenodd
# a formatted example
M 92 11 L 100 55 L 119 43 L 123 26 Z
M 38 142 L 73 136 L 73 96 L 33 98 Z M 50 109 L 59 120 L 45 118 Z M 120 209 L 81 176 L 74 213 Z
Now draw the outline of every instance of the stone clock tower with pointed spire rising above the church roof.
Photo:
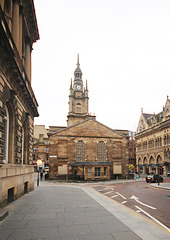
M 79 64 L 79 54 L 77 56 L 77 67 L 74 71 L 74 81 L 70 84 L 69 94 L 69 112 L 67 116 L 68 127 L 77 122 L 81 122 L 89 117 L 95 118 L 89 114 L 89 97 L 87 80 L 86 86 L 83 85 L 82 71 Z

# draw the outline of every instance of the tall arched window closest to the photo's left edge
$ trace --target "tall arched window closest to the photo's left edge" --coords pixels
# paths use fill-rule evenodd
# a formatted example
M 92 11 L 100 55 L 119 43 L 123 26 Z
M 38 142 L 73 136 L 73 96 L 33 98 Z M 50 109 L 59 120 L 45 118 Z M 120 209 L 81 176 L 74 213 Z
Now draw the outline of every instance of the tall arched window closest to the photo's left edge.
M 3 151 L 3 162 L 8 163 L 8 149 L 9 149 L 9 111 L 5 106 L 4 115 L 4 151 Z

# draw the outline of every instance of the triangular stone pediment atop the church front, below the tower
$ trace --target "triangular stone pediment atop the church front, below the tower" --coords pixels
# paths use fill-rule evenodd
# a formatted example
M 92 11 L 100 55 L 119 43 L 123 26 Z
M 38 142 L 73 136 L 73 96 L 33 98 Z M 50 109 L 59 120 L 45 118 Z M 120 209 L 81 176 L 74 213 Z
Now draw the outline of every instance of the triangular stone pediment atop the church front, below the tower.
M 72 137 L 113 137 L 113 138 L 125 138 L 122 134 L 115 130 L 103 125 L 102 123 L 88 119 L 83 122 L 77 123 L 73 126 L 60 130 L 53 134 L 53 136 L 72 136 Z

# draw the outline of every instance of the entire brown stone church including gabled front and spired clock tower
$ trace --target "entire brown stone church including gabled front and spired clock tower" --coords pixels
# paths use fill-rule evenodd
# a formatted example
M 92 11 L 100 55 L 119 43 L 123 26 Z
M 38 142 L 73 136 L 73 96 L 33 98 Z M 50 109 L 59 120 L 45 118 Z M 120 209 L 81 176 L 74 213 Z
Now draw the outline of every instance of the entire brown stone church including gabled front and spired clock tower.
M 128 174 L 128 136 L 89 114 L 88 86 L 79 64 L 71 80 L 67 127 L 50 131 L 49 178 L 109 180 Z

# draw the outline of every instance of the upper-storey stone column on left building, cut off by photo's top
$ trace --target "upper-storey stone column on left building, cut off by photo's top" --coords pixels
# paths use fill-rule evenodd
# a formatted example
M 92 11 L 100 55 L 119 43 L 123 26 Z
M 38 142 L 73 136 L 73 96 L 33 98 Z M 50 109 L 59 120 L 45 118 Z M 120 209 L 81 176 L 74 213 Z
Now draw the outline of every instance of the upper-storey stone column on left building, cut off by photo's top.
M 13 4 L 13 26 L 12 26 L 12 35 L 16 44 L 17 49 L 19 50 L 19 3 L 17 0 L 14 0 Z

